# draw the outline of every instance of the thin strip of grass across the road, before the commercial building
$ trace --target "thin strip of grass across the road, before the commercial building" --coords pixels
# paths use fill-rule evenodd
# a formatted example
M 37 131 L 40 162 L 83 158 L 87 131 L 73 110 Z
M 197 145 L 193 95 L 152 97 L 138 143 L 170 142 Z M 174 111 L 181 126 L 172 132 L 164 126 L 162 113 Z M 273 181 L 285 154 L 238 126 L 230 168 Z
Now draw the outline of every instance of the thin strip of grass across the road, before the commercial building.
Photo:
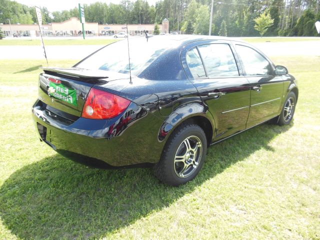
M 44 45 L 107 45 L 116 41 L 115 39 L 44 39 Z M 39 45 L 39 39 L 2 39 L 0 46 L 8 45 Z

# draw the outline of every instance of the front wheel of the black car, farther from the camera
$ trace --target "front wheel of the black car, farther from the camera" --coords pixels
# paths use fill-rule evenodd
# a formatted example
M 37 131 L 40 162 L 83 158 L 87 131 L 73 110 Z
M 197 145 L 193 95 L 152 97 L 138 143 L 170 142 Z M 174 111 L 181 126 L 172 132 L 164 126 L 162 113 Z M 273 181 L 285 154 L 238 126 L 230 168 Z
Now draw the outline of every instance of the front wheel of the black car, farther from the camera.
M 291 105 L 291 106 L 290 106 Z M 287 97 L 285 98 L 279 120 L 278 125 L 286 125 L 289 124 L 293 118 L 294 110 L 296 105 L 296 96 L 294 92 L 289 92 Z

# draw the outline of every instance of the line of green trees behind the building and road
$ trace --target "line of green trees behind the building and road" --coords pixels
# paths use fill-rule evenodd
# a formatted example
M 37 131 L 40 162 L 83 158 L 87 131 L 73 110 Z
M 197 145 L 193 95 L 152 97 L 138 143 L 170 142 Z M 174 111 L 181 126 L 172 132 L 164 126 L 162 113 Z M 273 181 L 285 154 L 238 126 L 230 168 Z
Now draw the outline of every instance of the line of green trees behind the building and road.
M 317 36 L 314 26 L 320 20 L 320 0 L 214 0 L 212 35 L 224 36 Z M 97 1 L 84 4 L 87 22 L 99 24 L 161 24 L 169 20 L 170 31 L 208 34 L 211 0 L 122 0 L 119 4 Z M 78 17 L 75 6 L 50 12 L 41 7 L 42 23 L 61 22 Z M 263 28 L 265 17 L 267 27 Z M 262 19 L 261 19 L 262 18 Z M 34 7 L 11 0 L 0 0 L 0 22 L 32 24 Z M 259 24 L 262 24 L 259 27 Z M 262 31 L 260 31 L 262 30 Z

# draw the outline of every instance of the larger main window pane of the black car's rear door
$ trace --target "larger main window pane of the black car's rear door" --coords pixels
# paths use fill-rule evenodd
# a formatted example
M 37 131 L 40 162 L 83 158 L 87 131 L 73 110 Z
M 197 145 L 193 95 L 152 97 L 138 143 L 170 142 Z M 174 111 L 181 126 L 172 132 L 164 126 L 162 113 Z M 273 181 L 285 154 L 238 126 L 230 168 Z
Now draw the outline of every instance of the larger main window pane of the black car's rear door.
M 239 75 L 229 44 L 205 44 L 198 46 L 198 49 L 208 77 Z

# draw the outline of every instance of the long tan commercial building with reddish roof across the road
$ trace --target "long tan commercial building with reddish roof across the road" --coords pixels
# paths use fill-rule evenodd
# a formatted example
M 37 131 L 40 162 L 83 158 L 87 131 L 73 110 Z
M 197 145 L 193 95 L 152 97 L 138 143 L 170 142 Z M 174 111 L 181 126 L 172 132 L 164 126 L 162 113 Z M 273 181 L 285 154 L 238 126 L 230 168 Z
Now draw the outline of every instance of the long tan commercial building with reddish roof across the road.
M 128 33 L 130 35 L 153 33 L 155 24 L 128 24 Z M 162 24 L 159 24 L 159 31 L 169 32 L 169 21 L 164 18 Z M 13 33 L 20 36 L 29 36 L 32 33 L 39 35 L 37 24 L 1 24 L 0 27 L 6 36 Z M 118 32 L 126 31 L 125 24 L 98 24 L 97 22 L 85 22 L 84 30 L 86 36 L 112 35 Z M 71 17 L 63 22 L 52 22 L 42 24 L 42 36 L 79 36 L 82 34 L 82 25 L 76 17 Z

